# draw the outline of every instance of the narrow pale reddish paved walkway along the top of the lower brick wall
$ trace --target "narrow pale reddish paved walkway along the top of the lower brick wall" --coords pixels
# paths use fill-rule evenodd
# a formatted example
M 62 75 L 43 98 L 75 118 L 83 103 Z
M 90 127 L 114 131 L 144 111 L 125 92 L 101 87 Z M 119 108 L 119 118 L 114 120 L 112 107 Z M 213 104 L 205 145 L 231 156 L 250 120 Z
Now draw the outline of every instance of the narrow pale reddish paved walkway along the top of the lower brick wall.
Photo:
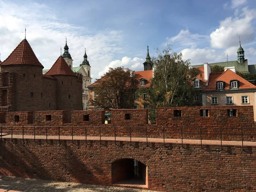
M 3 138 L 22 139 L 22 135 L 3 135 Z M 24 139 L 34 139 L 34 135 L 24 135 Z M 45 135 L 36 135 L 35 139 L 46 139 Z M 48 140 L 58 140 L 58 136 L 48 136 Z M 60 140 L 72 140 L 71 136 L 60 136 Z M 85 137 L 74 136 L 73 140 L 85 140 Z M 100 140 L 99 137 L 87 137 L 87 140 Z M 114 141 L 115 137 L 101 137 L 102 141 Z M 127 141 L 130 142 L 130 137 L 116 137 L 116 141 Z M 146 138 L 132 137 L 132 142 L 146 142 Z M 159 138 L 148 138 L 148 143 L 163 143 L 163 139 Z M 165 139 L 165 143 L 182 143 L 181 139 Z M 201 145 L 201 140 L 188 140 L 183 139 L 183 144 L 198 144 Z M 202 145 L 221 145 L 220 140 L 202 140 Z M 222 141 L 222 145 L 236 145 L 241 146 L 241 141 Z M 244 146 L 256 146 L 255 141 L 244 141 Z

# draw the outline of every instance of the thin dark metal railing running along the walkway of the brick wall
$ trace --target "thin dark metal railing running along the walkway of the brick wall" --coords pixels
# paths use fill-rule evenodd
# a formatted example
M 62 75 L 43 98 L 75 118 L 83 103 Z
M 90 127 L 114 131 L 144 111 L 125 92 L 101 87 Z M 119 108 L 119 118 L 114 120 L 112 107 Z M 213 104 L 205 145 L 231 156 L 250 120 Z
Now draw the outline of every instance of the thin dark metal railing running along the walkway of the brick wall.
M 200 140 L 201 148 L 203 140 L 219 140 L 222 141 L 241 141 L 244 149 L 244 141 L 256 141 L 256 129 L 253 128 L 192 128 L 192 127 L 157 127 L 157 126 L 1 126 L 1 141 L 3 134 L 13 136 L 24 135 L 45 136 L 48 140 L 49 136 L 58 136 L 60 142 L 61 137 L 71 136 L 72 142 L 74 137 L 99 137 L 102 143 L 102 137 L 114 137 L 116 144 L 117 137 L 130 137 L 130 145 L 132 138 L 145 138 L 148 146 L 148 138 L 163 139 L 163 145 L 166 145 L 166 139 L 180 139 L 183 147 L 183 140 Z M 224 138 L 224 139 L 223 139 Z

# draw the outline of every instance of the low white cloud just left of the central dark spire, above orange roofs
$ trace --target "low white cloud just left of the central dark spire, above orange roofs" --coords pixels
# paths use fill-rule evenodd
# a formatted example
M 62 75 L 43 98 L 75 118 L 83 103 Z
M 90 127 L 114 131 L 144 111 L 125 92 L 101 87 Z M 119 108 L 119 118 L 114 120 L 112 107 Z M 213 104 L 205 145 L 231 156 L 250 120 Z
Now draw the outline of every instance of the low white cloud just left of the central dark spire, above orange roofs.
M 143 70 L 144 61 L 145 61 L 144 59 L 137 58 L 137 57 L 134 57 L 133 59 L 129 57 L 123 57 L 122 60 L 111 61 L 110 64 L 108 64 L 108 66 L 106 66 L 103 71 L 99 72 L 99 76 L 103 76 L 104 73 L 108 72 L 110 67 L 111 68 L 116 68 L 116 67 L 127 68 L 128 67 L 131 70 L 141 71 Z

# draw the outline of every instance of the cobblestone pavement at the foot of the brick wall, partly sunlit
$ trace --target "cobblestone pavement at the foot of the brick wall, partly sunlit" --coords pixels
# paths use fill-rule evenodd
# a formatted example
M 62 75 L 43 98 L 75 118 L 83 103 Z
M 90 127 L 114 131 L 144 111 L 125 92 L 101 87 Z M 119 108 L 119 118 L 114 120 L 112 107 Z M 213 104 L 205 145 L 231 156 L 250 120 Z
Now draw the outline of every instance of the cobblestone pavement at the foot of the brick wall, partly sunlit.
M 20 192 L 156 192 L 116 186 L 99 186 L 16 177 L 0 178 L 0 189 Z

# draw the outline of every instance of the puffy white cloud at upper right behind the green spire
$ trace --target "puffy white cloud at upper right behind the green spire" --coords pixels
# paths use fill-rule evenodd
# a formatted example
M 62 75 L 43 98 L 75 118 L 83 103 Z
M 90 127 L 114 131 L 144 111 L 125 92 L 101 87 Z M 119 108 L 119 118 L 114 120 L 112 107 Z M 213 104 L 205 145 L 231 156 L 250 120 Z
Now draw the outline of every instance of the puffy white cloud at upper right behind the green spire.
M 251 21 L 255 18 L 255 10 L 243 8 L 240 17 L 227 17 L 222 20 L 219 28 L 210 35 L 211 46 L 218 49 L 237 46 L 239 35 L 243 43 L 253 41 L 255 35 Z

